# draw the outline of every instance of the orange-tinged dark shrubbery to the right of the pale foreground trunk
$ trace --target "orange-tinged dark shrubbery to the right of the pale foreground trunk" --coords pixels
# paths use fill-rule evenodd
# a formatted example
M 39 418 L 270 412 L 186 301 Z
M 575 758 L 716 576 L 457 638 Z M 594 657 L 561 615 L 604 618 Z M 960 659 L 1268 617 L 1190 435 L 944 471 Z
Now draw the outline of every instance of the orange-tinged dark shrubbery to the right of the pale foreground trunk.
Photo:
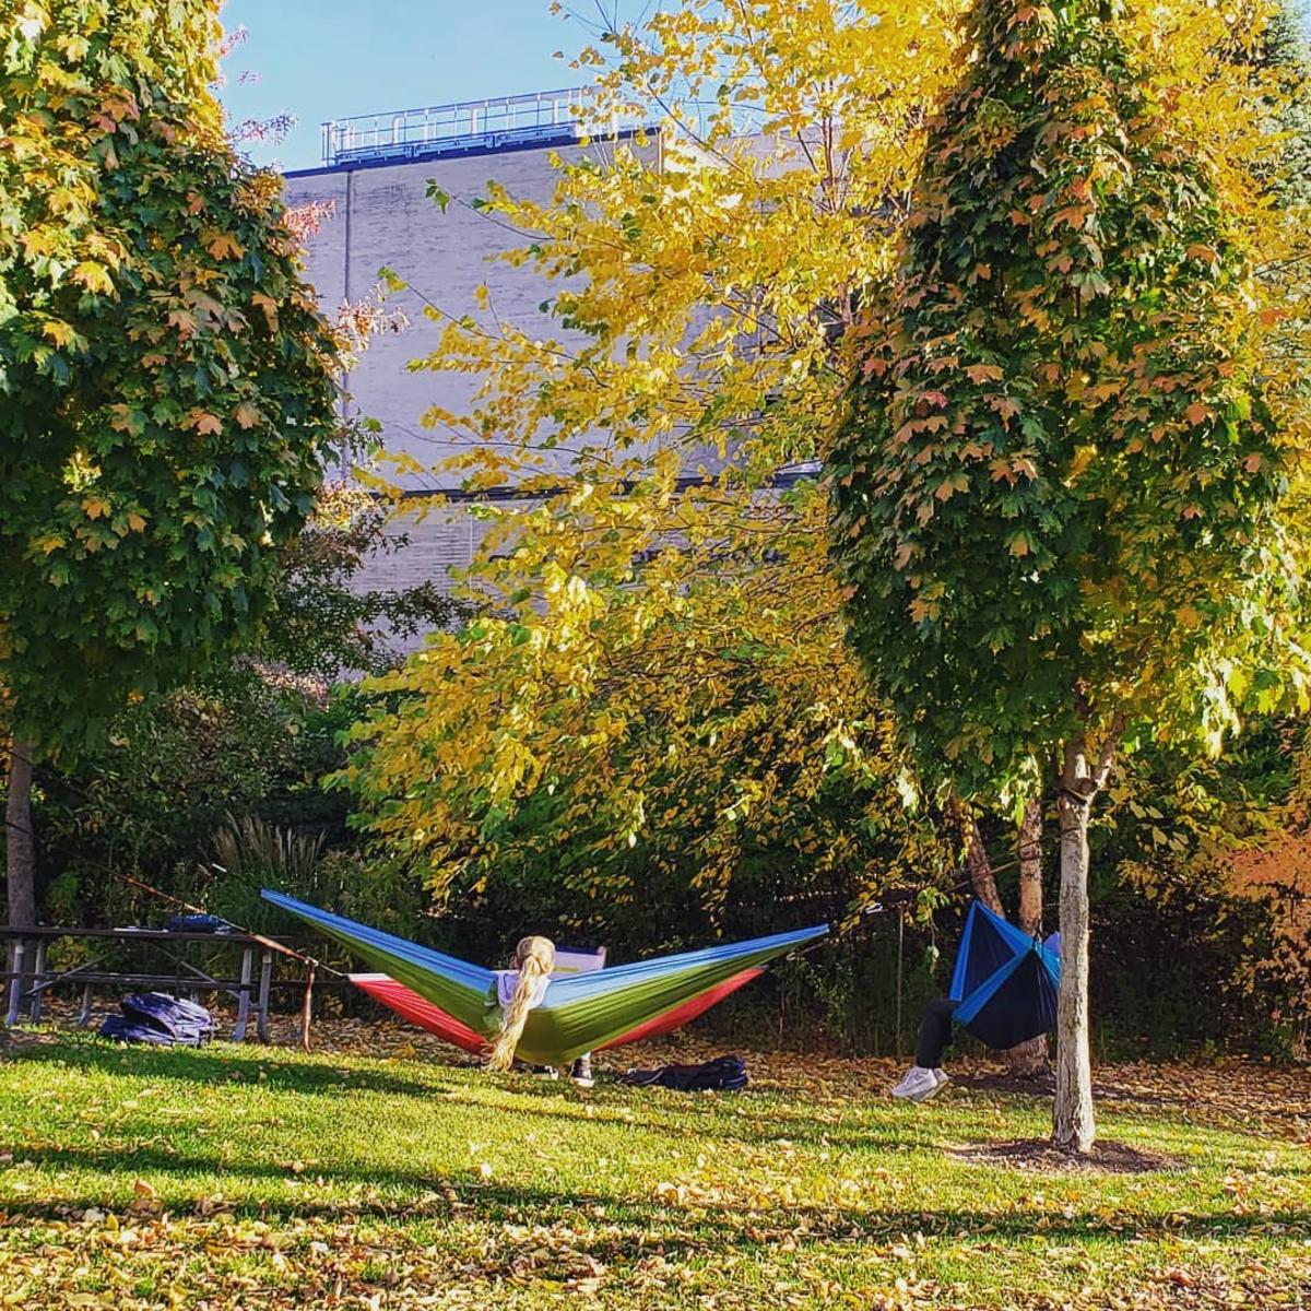
M 1104 1049 L 1304 1050 L 1304 738 L 1257 718 L 1218 760 L 1154 746 L 1125 760 L 1092 831 Z

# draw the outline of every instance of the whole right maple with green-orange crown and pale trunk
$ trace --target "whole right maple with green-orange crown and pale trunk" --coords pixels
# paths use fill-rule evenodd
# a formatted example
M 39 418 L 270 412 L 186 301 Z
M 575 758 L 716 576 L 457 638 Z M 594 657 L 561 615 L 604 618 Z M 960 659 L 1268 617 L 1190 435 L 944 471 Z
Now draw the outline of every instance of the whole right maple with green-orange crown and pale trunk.
M 1087 827 L 1116 751 L 1219 750 L 1248 708 L 1304 709 L 1311 673 L 1306 414 L 1260 364 L 1282 317 L 1260 266 L 1303 237 L 1261 190 L 1278 90 L 1215 29 L 1217 118 L 1150 21 L 973 10 L 831 452 L 852 640 L 922 775 L 992 805 L 1057 780 L 1054 1138 L 1078 1151 Z

